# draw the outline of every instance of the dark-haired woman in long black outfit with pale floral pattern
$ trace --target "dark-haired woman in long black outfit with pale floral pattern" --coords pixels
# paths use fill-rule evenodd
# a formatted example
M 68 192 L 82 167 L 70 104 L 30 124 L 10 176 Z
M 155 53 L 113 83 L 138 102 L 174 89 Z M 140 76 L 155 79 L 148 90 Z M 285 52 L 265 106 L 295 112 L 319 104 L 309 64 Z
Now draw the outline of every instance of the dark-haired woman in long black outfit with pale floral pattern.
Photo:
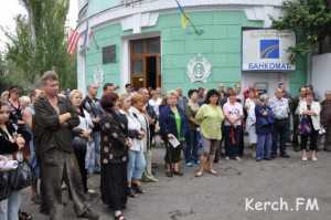
M 117 109 L 118 95 L 106 93 L 100 101 L 102 117 L 102 199 L 124 220 L 121 210 L 127 203 L 128 123 Z

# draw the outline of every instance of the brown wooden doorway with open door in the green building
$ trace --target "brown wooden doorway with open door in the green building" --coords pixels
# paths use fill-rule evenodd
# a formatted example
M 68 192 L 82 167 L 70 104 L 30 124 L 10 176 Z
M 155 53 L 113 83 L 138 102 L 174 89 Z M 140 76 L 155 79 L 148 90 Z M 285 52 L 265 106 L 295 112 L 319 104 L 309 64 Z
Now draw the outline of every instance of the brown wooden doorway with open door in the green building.
M 130 41 L 131 84 L 135 88 L 161 86 L 160 38 Z

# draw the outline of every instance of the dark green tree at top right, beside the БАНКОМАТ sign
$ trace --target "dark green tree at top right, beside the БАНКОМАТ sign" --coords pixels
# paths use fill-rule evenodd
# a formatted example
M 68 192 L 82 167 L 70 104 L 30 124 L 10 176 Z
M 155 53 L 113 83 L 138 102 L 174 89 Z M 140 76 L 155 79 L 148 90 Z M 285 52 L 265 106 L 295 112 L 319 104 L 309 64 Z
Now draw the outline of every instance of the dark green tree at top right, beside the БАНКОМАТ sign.
M 296 55 L 321 52 L 321 45 L 331 36 L 331 4 L 329 0 L 287 0 L 282 4 L 284 15 L 273 18 L 276 29 L 289 29 L 297 34 L 297 44 L 290 48 Z

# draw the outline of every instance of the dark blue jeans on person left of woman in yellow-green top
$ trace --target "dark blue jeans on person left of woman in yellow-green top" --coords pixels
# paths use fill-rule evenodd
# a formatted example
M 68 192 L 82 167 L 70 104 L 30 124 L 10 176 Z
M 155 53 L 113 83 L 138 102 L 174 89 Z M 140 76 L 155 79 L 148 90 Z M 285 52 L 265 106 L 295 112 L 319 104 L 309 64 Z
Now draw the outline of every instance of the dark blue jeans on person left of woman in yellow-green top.
M 184 145 L 185 163 L 196 163 L 199 160 L 199 133 L 196 129 L 190 129 L 186 134 L 186 144 Z

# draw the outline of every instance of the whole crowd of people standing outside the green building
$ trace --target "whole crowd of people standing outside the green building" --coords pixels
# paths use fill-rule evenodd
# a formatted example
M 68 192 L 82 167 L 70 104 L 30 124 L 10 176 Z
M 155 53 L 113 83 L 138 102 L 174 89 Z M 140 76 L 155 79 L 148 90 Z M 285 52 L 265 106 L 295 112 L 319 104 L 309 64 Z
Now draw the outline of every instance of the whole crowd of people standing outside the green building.
M 88 177 L 100 175 L 100 196 L 124 220 L 127 199 L 145 193 L 143 181 L 157 182 L 153 147 L 164 146 L 166 176 L 184 175 L 183 166 L 196 166 L 195 177 L 217 176 L 221 157 L 241 161 L 248 134 L 256 161 L 289 158 L 292 143 L 301 159 L 318 160 L 319 139 L 331 150 L 331 92 L 319 102 L 311 85 L 291 97 L 282 84 L 269 98 L 254 87 L 217 90 L 135 90 L 126 84 L 89 84 L 87 95 L 78 90 L 60 92 L 54 71 L 41 78 L 41 87 L 20 96 L 12 86 L 0 102 L 0 175 L 10 161 L 26 160 L 36 177 L 31 200 L 52 220 L 63 218 L 62 190 L 70 191 L 77 217 L 96 220 L 86 203 Z M 309 145 L 309 146 L 308 146 Z M 183 163 L 182 161 L 183 158 Z M 0 201 L 0 220 L 31 219 L 21 210 L 21 190 L 11 190 Z

